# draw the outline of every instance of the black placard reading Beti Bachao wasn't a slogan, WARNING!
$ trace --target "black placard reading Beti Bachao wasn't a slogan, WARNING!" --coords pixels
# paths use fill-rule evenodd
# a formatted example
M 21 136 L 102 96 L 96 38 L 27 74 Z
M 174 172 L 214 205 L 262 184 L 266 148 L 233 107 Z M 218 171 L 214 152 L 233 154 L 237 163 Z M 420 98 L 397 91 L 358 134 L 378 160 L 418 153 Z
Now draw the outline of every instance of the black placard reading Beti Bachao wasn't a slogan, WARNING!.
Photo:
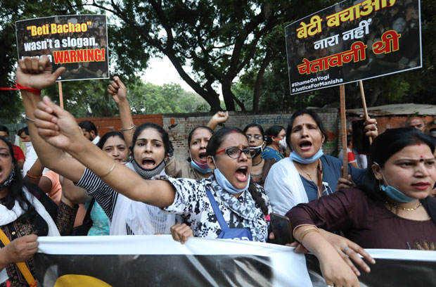
M 15 23 L 18 58 L 49 57 L 53 70 L 65 67 L 60 81 L 108 79 L 105 15 L 62 15 Z

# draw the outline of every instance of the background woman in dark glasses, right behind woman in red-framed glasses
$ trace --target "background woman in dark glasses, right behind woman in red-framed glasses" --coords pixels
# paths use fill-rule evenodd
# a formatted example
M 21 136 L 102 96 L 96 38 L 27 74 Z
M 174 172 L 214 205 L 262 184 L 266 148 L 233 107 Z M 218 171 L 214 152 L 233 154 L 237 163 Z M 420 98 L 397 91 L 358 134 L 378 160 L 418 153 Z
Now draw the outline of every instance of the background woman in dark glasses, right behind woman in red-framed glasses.
M 252 158 L 251 180 L 255 184 L 264 186 L 268 172 L 271 169 L 271 166 L 276 163 L 276 159 L 262 158 L 261 154 L 264 150 L 264 147 L 266 146 L 266 142 L 264 141 L 264 129 L 261 125 L 252 123 L 250 125 L 247 125 L 243 129 L 243 132 L 245 136 L 247 136 L 250 148 L 256 149 L 255 156 Z

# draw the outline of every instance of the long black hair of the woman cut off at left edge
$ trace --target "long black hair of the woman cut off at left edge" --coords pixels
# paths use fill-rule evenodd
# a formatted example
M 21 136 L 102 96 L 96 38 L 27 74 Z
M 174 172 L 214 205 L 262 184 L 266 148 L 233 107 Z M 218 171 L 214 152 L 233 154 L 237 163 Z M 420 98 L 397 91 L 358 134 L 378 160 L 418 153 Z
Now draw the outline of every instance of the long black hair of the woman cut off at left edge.
M 15 160 L 11 142 L 8 141 L 8 139 L 6 139 L 4 136 L 0 136 L 0 140 L 3 141 L 6 146 L 8 146 L 9 153 L 12 157 L 13 170 L 15 172 L 15 177 L 13 177 L 11 184 L 9 184 L 9 193 L 4 198 L 5 206 L 6 208 L 8 208 L 8 210 L 12 210 L 16 200 L 20 207 L 25 211 L 23 217 L 34 217 L 34 215 L 36 215 L 36 210 L 34 209 L 34 206 L 30 203 L 30 201 L 27 200 L 23 191 L 24 187 L 27 187 L 27 189 L 30 189 L 31 187 L 28 186 L 23 180 L 23 175 L 21 174 L 20 167 L 17 160 Z

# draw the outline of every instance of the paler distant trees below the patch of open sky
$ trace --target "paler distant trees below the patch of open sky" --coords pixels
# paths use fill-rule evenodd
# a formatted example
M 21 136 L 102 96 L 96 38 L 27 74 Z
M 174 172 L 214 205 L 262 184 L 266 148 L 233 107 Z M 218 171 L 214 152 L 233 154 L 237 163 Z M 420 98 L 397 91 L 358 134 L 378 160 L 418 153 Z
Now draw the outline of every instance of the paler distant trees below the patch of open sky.
M 119 115 L 115 101 L 107 91 L 109 81 L 89 80 L 63 82 L 65 110 L 75 117 L 112 117 Z M 127 96 L 133 115 L 157 113 L 206 112 L 209 106 L 198 94 L 185 91 L 179 84 L 158 86 L 140 78 L 127 79 Z M 58 102 L 58 87 L 46 94 Z

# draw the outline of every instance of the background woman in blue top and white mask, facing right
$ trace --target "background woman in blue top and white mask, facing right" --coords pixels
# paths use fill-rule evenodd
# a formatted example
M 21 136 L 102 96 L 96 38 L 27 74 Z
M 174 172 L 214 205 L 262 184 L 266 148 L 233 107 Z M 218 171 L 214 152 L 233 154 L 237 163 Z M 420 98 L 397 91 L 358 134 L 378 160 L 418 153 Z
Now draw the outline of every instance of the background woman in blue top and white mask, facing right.
M 265 131 L 267 146 L 262 151 L 262 158 L 274 158 L 276 161 L 285 158 L 282 149 L 286 148 L 286 130 L 279 125 L 269 127 Z

